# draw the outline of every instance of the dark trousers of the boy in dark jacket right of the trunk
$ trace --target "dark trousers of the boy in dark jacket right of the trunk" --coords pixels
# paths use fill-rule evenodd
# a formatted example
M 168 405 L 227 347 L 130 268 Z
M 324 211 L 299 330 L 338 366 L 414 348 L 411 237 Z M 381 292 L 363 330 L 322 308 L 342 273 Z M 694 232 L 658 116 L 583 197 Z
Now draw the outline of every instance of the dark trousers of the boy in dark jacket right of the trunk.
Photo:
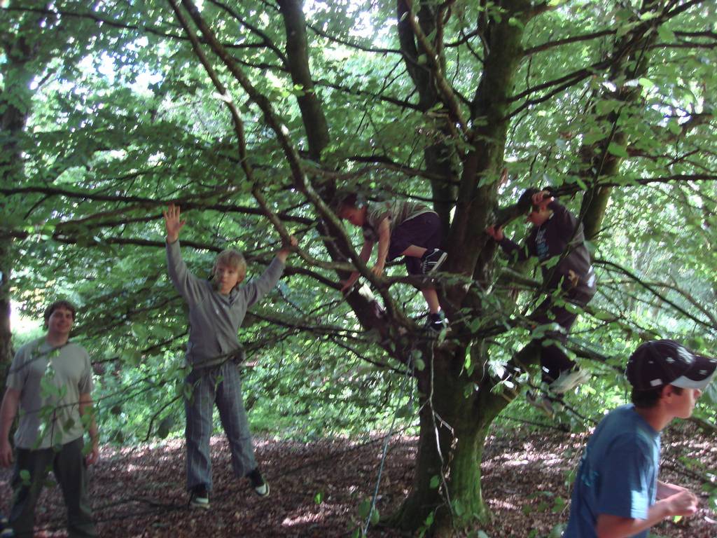
M 594 288 L 590 291 L 571 290 L 563 297 L 563 301 L 571 303 L 572 310 L 575 310 L 575 307 L 583 308 L 592 299 L 594 293 Z M 549 297 L 538 305 L 530 318 L 538 325 L 558 324 L 561 328 L 560 331 L 546 331 L 540 341 L 542 344 L 546 339 L 551 339 L 564 346 L 568 341 L 568 333 L 578 318 L 578 312 L 570 311 L 566 306 L 556 304 L 555 298 Z M 541 345 L 540 364 L 543 383 L 547 384 L 558 379 L 560 372 L 574 369 L 576 366 L 575 362 L 555 344 Z

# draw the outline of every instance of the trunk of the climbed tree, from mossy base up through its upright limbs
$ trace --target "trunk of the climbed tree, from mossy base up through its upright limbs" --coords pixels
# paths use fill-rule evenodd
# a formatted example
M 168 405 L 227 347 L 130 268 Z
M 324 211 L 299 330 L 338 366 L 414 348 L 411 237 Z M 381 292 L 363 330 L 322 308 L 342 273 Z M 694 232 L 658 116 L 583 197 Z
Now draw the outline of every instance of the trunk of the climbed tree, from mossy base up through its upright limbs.
M 418 30 L 415 27 L 409 29 L 408 16 L 404 16 L 405 4 L 399 0 L 398 5 L 402 51 L 407 58 L 415 58 L 425 52 L 422 48 L 425 41 L 420 35 L 412 34 Z M 441 20 L 445 21 L 441 19 L 444 14 L 432 9 L 432 4 L 422 2 L 416 10 L 424 35 L 440 35 L 435 28 L 442 24 Z M 513 0 L 503 2 L 503 9 L 525 21 L 530 4 Z M 502 22 L 491 21 L 485 29 L 488 46 L 484 70 L 470 107 L 470 120 L 477 127 L 473 132 L 462 133 L 472 149 L 462 157 L 456 214 L 447 240 L 448 270 L 473 277 L 480 265 L 479 280 L 490 274 L 493 267 L 495 251 L 490 248 L 490 256 L 484 256 L 487 236 L 483 230 L 491 219 L 497 195 L 496 183 L 484 181 L 479 186 L 479 182 L 485 176 L 498 179 L 503 167 L 509 123 L 508 96 L 522 54 L 523 27 L 508 24 L 508 18 L 505 16 Z M 435 50 L 441 49 L 440 44 L 434 44 Z M 436 78 L 441 76 L 439 66 L 440 62 L 437 62 L 433 72 Z M 455 123 L 457 118 L 450 103 L 451 95 L 445 90 L 435 90 L 440 81 L 427 76 L 426 70 L 417 69 L 411 62 L 407 62 L 407 69 L 419 91 L 421 103 L 432 106 L 432 99 L 444 103 L 449 111 L 447 116 L 452 116 L 450 123 Z M 444 173 L 448 162 L 446 152 L 440 160 L 427 159 L 428 165 L 440 163 Z M 440 171 L 440 166 L 436 168 Z M 445 183 L 434 185 L 433 192 L 443 196 L 453 194 Z M 462 286 L 453 286 L 447 291 L 444 306 L 448 307 L 449 318 L 466 306 L 466 295 Z M 471 298 L 470 302 L 475 303 L 475 299 Z M 480 304 L 471 306 L 476 313 L 482 311 Z M 414 480 L 409 496 L 392 520 L 402 529 L 429 528 L 434 536 L 451 536 L 457 529 L 475 524 L 476 520 L 486 522 L 490 517 L 483 501 L 480 462 L 490 424 L 512 399 L 510 395 L 503 397 L 490 392 L 491 379 L 472 379 L 465 373 L 463 365 L 467 350 L 471 344 L 478 345 L 460 324 L 452 325 L 452 331 L 452 344 L 424 349 L 424 357 L 430 354 L 433 357 L 431 362 L 427 361 L 427 370 L 418 374 L 422 410 Z M 475 359 L 480 361 L 476 364 L 487 361 L 484 355 Z M 478 369 L 483 371 L 483 367 Z M 465 387 L 473 383 L 480 386 L 479 390 L 466 393 Z

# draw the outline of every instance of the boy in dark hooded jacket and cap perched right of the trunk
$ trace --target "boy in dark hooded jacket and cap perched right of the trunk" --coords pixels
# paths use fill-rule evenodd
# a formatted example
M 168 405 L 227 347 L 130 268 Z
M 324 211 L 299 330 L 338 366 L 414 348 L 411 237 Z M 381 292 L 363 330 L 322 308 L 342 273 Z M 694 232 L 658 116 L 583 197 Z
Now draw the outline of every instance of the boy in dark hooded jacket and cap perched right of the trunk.
M 574 307 L 586 306 L 596 291 L 595 273 L 585 247 L 583 226 L 548 191 L 528 189 L 521 195 L 518 204 L 527 199 L 532 204 L 527 220 L 533 229 L 522 247 L 505 237 L 500 227 L 491 226 L 486 231 L 500 243 L 506 254 L 514 256 L 516 260 L 523 261 L 530 257 L 540 260 L 543 287 L 549 296 L 538 305 L 530 318 L 536 326 L 560 326 L 559 331 L 546 331 L 541 341 L 552 339 L 566 344 L 567 334 L 578 316 Z M 571 303 L 573 307 L 566 308 L 565 303 Z M 557 395 L 568 392 L 589 377 L 586 372 L 578 369 L 561 346 L 555 344 L 541 346 L 541 369 L 543 382 L 549 384 L 551 392 Z M 532 394 L 528 394 L 528 399 L 535 402 Z M 549 399 L 543 398 L 539 404 L 549 413 L 552 412 Z

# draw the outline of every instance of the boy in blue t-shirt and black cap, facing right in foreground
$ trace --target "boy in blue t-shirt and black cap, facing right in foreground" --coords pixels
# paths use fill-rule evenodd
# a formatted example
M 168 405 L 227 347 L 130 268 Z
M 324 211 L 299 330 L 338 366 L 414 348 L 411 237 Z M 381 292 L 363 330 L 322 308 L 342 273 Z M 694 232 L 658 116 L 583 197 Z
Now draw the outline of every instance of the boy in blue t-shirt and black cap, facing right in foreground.
M 663 519 L 697 511 L 694 494 L 657 480 L 660 432 L 673 418 L 692 415 L 716 367 L 716 359 L 674 340 L 635 350 L 626 372 L 632 405 L 609 412 L 588 441 L 564 538 L 646 538 Z

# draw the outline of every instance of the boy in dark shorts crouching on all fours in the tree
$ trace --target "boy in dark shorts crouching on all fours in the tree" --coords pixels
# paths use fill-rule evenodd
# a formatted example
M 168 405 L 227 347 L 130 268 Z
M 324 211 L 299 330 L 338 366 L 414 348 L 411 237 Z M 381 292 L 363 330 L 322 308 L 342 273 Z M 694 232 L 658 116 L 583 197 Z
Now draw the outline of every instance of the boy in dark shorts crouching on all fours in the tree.
M 387 261 L 404 256 L 409 275 L 429 275 L 437 271 L 446 260 L 440 250 L 441 225 L 438 214 L 424 204 L 405 200 L 362 202 L 355 193 L 339 197 L 336 214 L 364 232 L 364 245 L 359 258 L 366 263 L 371 258 L 374 244 L 379 243 L 376 265 L 371 271 L 376 276 L 384 273 Z M 343 281 L 341 291 L 347 291 L 359 279 L 354 271 Z M 426 329 L 440 332 L 446 325 L 435 288 L 422 288 L 428 304 Z

